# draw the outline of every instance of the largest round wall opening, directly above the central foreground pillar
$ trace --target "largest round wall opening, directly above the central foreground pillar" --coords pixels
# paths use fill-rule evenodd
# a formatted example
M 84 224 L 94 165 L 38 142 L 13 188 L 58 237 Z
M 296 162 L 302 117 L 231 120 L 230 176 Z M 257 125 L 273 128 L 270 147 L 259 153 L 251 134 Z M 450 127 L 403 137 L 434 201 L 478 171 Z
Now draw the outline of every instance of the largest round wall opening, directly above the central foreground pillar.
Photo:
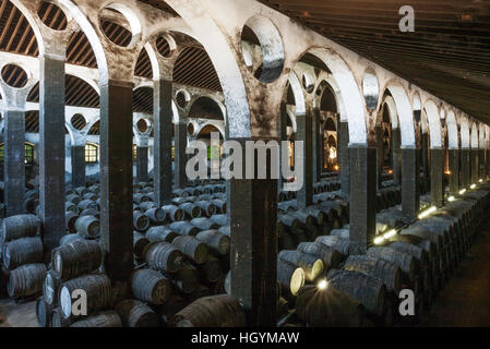
M 262 63 L 259 81 L 272 83 L 280 76 L 284 69 L 283 38 L 268 19 L 261 15 L 249 19 L 241 31 L 241 44 L 243 60 L 250 71 Z

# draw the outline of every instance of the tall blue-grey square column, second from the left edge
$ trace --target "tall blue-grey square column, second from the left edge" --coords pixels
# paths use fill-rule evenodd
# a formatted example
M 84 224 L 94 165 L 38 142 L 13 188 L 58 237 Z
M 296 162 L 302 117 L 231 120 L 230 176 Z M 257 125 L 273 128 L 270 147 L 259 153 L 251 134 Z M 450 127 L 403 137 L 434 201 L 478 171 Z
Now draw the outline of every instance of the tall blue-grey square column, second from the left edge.
M 43 238 L 58 246 L 64 230 L 64 56 L 40 55 L 39 203 Z

